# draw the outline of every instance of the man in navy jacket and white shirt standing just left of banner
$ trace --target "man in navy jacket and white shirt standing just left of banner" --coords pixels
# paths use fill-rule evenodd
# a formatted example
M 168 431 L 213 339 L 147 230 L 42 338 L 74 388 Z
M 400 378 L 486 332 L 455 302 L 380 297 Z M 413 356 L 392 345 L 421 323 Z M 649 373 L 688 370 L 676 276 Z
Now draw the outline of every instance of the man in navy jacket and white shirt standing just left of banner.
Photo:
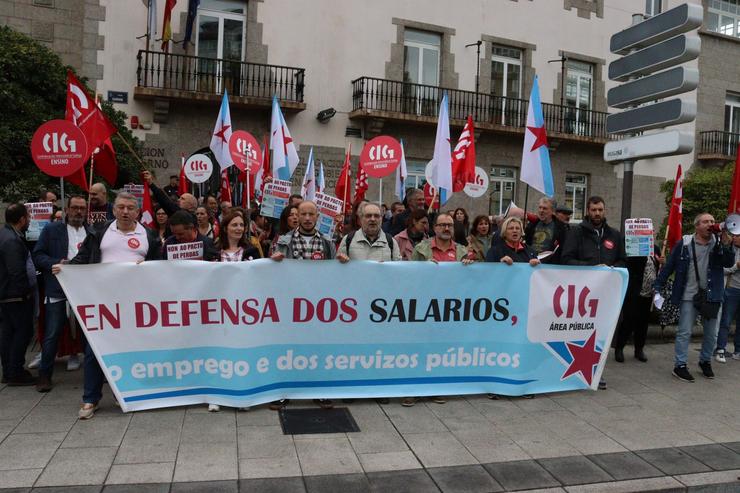
M 44 338 L 41 341 L 41 363 L 39 378 L 36 381 L 36 390 L 39 392 L 51 390 L 57 345 L 67 321 L 67 297 L 51 269 L 55 264 L 62 264 L 74 258 L 85 237 L 92 231 L 85 225 L 87 201 L 81 195 L 69 197 L 64 213 L 65 221 L 46 225 L 33 249 L 33 261 L 44 275 L 46 288 Z

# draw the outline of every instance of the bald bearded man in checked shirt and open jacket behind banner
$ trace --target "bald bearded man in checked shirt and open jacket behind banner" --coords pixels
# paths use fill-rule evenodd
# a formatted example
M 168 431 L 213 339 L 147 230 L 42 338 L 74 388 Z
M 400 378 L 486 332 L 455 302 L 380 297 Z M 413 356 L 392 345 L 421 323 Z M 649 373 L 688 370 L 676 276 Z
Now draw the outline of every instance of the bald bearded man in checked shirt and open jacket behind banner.
M 298 227 L 278 238 L 277 249 L 270 257 L 280 262 L 285 258 L 294 260 L 331 260 L 336 257 L 334 243 L 319 233 L 316 223 L 319 209 L 316 204 L 305 200 L 298 205 Z M 287 404 L 287 399 L 275 401 L 270 409 L 278 410 Z M 334 407 L 329 399 L 314 399 L 323 409 Z

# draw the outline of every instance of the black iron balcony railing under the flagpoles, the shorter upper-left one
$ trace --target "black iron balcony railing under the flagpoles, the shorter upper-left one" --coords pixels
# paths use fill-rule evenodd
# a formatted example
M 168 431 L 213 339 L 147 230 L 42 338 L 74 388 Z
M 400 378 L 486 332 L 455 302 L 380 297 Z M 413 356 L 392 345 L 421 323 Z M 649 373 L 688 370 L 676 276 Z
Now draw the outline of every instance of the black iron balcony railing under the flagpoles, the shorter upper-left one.
M 302 103 L 305 69 L 140 50 L 139 87 Z

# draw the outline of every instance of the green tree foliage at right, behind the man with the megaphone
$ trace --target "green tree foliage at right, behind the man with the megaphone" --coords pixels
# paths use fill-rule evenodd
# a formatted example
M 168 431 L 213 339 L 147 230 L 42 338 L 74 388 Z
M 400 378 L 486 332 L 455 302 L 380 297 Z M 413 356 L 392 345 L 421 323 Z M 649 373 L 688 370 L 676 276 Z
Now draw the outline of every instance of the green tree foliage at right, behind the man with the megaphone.
M 735 172 L 735 163 L 728 162 L 720 167 L 702 168 L 693 166 L 683 180 L 683 233 L 694 231 L 694 217 L 701 212 L 709 212 L 717 221 L 724 221 L 727 217 L 727 205 L 730 202 L 732 189 L 732 175 Z M 661 191 L 665 194 L 666 219 L 663 221 L 658 238 L 665 236 L 665 226 L 668 222 L 668 213 L 673 197 L 673 183 L 666 181 Z

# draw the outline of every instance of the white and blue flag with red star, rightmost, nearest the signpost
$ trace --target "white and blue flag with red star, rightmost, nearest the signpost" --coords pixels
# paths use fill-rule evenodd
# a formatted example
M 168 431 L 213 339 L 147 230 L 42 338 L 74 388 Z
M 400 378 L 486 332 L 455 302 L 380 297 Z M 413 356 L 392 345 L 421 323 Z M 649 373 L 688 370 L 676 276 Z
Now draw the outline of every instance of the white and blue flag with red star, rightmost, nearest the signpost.
M 532 92 L 529 95 L 521 173 L 521 180 L 530 187 L 539 190 L 548 197 L 555 195 L 552 167 L 550 166 L 550 151 L 547 148 L 547 132 L 545 131 L 545 119 L 542 117 L 542 102 L 540 101 L 537 76 L 534 77 L 534 85 L 532 85 Z

